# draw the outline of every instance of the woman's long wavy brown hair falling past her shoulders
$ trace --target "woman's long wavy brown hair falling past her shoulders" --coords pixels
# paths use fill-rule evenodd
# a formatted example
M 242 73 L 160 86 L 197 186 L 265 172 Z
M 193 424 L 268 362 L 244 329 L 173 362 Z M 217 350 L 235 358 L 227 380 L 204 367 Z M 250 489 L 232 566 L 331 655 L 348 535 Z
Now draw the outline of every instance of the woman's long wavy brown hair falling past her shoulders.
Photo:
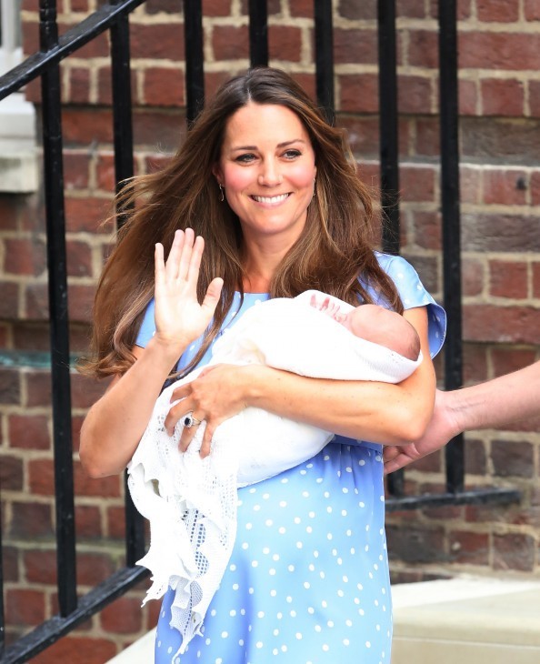
M 357 176 L 345 132 L 330 126 L 285 72 L 257 67 L 221 86 L 168 165 L 157 173 L 135 177 L 117 199 L 116 209 L 123 215 L 125 210 L 132 211 L 117 234 L 97 287 L 93 357 L 83 365 L 85 373 L 122 374 L 135 361 L 131 348 L 154 295 L 154 246 L 161 242 L 166 255 L 176 228 L 192 227 L 205 238 L 197 287 L 200 301 L 214 277 L 224 279 L 212 325 L 186 372 L 215 338 L 235 291 L 244 296 L 241 226 L 226 201 L 220 201 L 212 168 L 221 154 L 228 119 L 250 102 L 294 111 L 311 139 L 317 167 L 315 197 L 305 228 L 277 268 L 270 296 L 295 297 L 315 288 L 356 305 L 359 298 L 372 301 L 365 288 L 369 285 L 389 307 L 403 312 L 394 283 L 374 254 L 372 196 Z

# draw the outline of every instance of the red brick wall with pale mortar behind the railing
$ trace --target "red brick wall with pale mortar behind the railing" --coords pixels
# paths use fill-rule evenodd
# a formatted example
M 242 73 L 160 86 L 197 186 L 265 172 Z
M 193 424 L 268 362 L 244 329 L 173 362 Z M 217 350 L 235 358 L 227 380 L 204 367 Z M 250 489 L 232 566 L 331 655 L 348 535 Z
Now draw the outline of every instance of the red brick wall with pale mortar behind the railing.
M 61 31 L 100 3 L 58 3 Z M 183 16 L 177 0 L 148 0 L 131 18 L 135 171 L 159 165 L 185 133 Z M 269 0 L 272 64 L 315 92 L 313 3 Z M 335 98 L 365 178 L 378 160 L 376 2 L 335 2 Z M 37 48 L 37 0 L 25 0 L 25 50 Z M 246 0 L 205 0 L 210 95 L 248 65 Z M 441 296 L 437 23 L 435 0 L 397 2 L 402 245 Z M 535 0 L 463 0 L 459 11 L 465 381 L 495 377 L 540 357 L 540 9 Z M 110 241 L 101 226 L 114 190 L 108 36 L 62 65 L 65 212 L 72 350 L 87 345 L 95 279 Z M 39 86 L 27 88 L 39 109 Z M 48 348 L 43 196 L 0 196 L 0 348 Z M 440 362 L 439 377 L 442 375 Z M 90 480 L 76 447 L 101 387 L 73 376 L 79 592 L 122 564 L 122 483 Z M 50 387 L 43 369 L 0 367 L 0 479 L 9 636 L 56 610 Z M 395 577 L 512 571 L 540 575 L 540 418 L 467 436 L 467 486 L 523 491 L 512 508 L 434 508 L 392 514 Z M 441 490 L 442 458 L 407 474 L 413 492 Z M 44 563 L 45 564 L 38 564 Z M 76 648 L 103 662 L 155 623 L 143 589 L 36 658 Z

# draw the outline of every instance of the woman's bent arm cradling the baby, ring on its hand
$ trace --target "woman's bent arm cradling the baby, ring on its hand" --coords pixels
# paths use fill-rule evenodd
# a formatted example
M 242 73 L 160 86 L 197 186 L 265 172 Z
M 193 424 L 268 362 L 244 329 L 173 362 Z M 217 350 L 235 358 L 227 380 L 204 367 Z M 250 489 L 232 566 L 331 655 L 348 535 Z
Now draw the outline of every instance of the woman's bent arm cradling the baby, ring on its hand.
M 431 419 L 435 371 L 429 355 L 425 307 L 409 309 L 405 317 L 418 332 L 424 361 L 398 385 L 302 377 L 270 367 L 218 365 L 175 390 L 174 398 L 185 400 L 171 408 L 165 426 L 172 430 L 189 411 L 195 411 L 197 418 L 203 416 L 207 423 L 203 455 L 209 453 L 215 428 L 244 407 L 263 408 L 348 438 L 386 444 L 415 440 Z M 193 435 L 185 429 L 181 448 L 189 445 Z

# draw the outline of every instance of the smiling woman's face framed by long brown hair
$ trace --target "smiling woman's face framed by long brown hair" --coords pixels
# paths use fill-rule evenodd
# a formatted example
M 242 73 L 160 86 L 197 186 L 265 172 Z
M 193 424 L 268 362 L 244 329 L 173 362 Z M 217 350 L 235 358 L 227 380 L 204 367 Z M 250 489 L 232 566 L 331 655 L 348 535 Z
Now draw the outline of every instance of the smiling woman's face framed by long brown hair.
M 305 127 L 285 106 L 250 102 L 231 116 L 214 174 L 244 236 L 292 246 L 314 194 L 315 152 Z

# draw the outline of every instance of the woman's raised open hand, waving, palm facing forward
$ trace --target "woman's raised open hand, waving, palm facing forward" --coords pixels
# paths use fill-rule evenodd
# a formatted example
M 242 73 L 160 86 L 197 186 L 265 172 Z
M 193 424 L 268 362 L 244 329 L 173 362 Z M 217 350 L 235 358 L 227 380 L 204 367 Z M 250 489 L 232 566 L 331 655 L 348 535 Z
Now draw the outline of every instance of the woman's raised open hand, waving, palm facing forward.
M 197 281 L 205 241 L 191 228 L 177 230 L 165 261 L 164 247 L 155 245 L 155 336 L 181 352 L 200 337 L 214 316 L 223 279 L 208 286 L 202 304 L 197 300 Z

